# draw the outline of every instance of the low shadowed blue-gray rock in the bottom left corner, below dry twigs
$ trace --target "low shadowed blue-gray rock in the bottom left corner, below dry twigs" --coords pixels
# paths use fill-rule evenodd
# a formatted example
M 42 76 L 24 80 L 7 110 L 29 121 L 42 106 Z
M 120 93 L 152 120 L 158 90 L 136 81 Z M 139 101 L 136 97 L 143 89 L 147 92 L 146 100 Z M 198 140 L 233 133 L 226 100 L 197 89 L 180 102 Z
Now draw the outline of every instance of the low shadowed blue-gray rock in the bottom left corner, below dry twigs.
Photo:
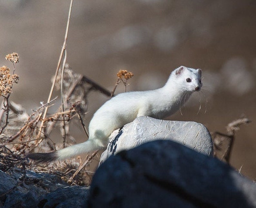
M 86 207 L 88 187 L 69 186 L 54 174 L 35 173 L 30 170 L 26 170 L 23 183 L 15 187 L 22 176 L 23 172 L 15 169 L 11 175 L 0 171 L 0 196 L 3 194 L 0 207 Z M 11 191 L 8 192 L 9 190 Z

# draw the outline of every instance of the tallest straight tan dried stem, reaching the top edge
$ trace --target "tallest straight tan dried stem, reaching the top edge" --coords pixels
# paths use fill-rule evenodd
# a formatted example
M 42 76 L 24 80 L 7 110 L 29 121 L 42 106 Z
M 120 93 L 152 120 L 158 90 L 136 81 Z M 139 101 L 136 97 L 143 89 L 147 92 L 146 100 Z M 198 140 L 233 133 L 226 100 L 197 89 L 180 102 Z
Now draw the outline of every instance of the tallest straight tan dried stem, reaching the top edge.
M 57 64 L 55 75 L 54 75 L 54 81 L 53 81 L 52 86 L 51 86 L 51 90 L 50 90 L 50 93 L 49 93 L 49 96 L 48 96 L 47 103 L 49 103 L 50 100 L 51 100 L 51 97 L 52 97 L 52 94 L 53 94 L 54 85 L 55 85 L 56 78 L 57 78 L 57 75 L 58 75 L 58 71 L 59 71 L 59 68 L 60 68 L 60 63 L 61 63 L 61 60 L 63 58 L 64 50 L 66 49 L 66 42 L 67 42 L 67 37 L 68 37 L 68 29 L 69 29 L 69 22 L 70 22 L 72 4 L 73 4 L 73 0 L 70 0 L 70 6 L 69 6 L 69 12 L 68 12 L 68 20 L 67 20 L 67 25 L 66 25 L 66 32 L 65 32 L 64 42 L 63 42 L 62 50 L 61 50 L 61 53 L 60 53 L 59 61 L 58 61 L 58 64 Z M 46 117 L 47 110 L 48 110 L 48 107 L 46 107 L 44 109 L 44 113 L 43 113 L 43 117 L 42 117 L 42 122 L 41 122 L 41 125 L 39 127 L 39 133 L 37 135 L 37 139 L 40 138 L 40 136 L 41 136 L 41 132 L 42 132 L 42 129 L 43 129 L 43 126 L 44 126 L 44 119 Z

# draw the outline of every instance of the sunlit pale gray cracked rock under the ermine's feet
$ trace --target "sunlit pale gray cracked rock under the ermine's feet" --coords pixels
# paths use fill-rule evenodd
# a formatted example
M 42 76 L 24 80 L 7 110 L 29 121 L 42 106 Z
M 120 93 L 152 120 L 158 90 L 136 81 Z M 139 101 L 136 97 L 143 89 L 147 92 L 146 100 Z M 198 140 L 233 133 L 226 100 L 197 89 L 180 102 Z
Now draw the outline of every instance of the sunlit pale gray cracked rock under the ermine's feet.
M 132 149 L 153 140 L 176 141 L 202 154 L 213 156 L 211 134 L 201 123 L 141 116 L 122 129 L 113 131 L 108 147 L 101 155 L 100 164 L 121 150 Z

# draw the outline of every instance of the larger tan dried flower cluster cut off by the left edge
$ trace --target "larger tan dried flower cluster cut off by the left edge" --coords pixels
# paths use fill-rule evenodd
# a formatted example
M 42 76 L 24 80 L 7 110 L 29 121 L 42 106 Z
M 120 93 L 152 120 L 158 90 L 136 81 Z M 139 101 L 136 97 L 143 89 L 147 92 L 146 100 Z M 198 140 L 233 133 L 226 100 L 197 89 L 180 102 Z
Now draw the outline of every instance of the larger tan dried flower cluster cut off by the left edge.
M 19 76 L 10 74 L 10 69 L 6 66 L 0 68 L 0 95 L 7 95 L 12 92 L 13 83 L 18 83 Z

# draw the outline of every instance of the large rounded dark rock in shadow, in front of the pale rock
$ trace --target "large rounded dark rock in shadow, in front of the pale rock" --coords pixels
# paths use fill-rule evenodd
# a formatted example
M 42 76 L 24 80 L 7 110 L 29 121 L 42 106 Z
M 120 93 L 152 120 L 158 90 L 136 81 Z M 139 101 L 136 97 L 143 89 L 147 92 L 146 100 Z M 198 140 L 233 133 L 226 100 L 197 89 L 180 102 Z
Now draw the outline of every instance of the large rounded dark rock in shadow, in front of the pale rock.
M 256 185 L 220 160 L 169 140 L 108 158 L 89 207 L 256 207 Z

